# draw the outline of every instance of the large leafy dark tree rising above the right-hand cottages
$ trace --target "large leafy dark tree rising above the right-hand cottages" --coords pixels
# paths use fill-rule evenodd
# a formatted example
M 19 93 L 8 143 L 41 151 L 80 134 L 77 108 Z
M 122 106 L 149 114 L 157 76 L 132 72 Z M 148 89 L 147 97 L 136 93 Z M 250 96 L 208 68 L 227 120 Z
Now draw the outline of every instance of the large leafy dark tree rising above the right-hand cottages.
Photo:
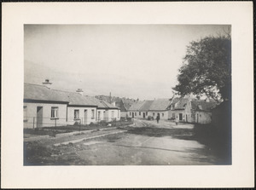
M 180 95 L 207 95 L 216 101 L 231 97 L 230 36 L 204 37 L 189 43 L 173 88 Z

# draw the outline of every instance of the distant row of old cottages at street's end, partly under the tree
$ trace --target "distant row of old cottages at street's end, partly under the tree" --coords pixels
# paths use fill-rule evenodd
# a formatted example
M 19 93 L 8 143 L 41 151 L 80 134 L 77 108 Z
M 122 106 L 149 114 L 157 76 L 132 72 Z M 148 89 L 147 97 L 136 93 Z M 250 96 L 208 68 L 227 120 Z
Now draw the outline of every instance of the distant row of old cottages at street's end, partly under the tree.
M 212 108 L 216 106 L 217 102 L 210 99 L 174 97 L 170 100 L 137 101 L 125 114 L 129 118 L 156 118 L 159 115 L 160 119 L 209 124 L 212 121 Z

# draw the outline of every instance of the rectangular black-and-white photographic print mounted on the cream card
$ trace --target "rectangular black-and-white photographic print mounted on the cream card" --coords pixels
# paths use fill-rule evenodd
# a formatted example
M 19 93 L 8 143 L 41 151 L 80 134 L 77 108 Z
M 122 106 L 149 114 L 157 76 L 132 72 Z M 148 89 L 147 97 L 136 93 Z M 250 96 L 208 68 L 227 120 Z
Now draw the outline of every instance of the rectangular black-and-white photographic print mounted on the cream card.
M 231 164 L 231 26 L 25 25 L 24 165 Z

